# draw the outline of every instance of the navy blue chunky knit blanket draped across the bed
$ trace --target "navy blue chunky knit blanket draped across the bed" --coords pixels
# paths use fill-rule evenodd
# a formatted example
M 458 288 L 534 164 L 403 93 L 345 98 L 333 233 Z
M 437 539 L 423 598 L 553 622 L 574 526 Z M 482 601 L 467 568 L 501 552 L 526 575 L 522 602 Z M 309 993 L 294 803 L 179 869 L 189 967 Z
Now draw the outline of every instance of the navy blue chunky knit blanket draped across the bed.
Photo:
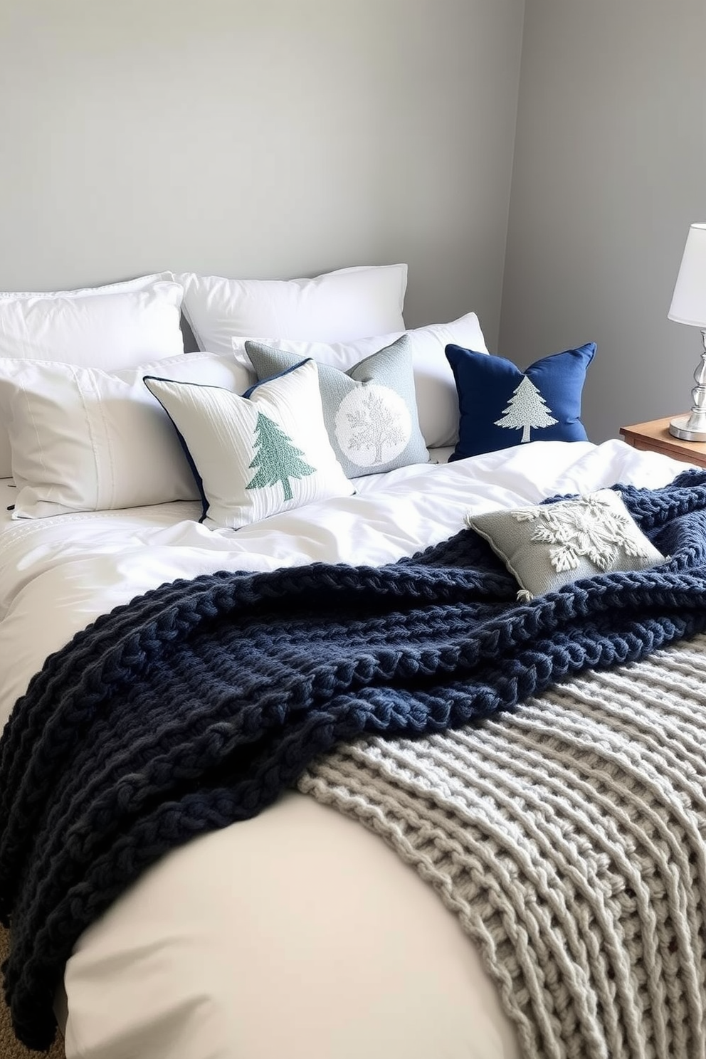
M 362 733 L 436 732 L 706 627 L 706 472 L 626 504 L 671 559 L 518 604 L 471 530 L 382 567 L 175 581 L 51 656 L 0 740 L 5 995 L 51 1043 L 77 937 L 149 864 Z

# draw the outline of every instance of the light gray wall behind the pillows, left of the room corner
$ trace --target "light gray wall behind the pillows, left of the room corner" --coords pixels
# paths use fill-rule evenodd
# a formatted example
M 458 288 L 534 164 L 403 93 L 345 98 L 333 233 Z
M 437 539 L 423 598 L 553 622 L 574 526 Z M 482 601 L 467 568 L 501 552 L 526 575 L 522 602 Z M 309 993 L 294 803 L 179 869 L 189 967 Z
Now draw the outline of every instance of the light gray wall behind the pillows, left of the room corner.
M 406 261 L 497 338 L 524 0 L 0 0 L 0 289 Z

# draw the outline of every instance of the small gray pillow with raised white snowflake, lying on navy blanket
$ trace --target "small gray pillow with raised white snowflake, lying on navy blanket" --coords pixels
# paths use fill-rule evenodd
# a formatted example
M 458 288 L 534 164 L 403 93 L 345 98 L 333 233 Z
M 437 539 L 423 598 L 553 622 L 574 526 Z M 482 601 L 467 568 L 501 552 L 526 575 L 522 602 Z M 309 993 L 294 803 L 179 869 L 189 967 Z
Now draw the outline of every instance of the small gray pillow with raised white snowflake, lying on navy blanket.
M 518 580 L 520 598 L 616 570 L 665 561 L 632 518 L 619 492 L 598 489 L 574 500 L 467 515 Z

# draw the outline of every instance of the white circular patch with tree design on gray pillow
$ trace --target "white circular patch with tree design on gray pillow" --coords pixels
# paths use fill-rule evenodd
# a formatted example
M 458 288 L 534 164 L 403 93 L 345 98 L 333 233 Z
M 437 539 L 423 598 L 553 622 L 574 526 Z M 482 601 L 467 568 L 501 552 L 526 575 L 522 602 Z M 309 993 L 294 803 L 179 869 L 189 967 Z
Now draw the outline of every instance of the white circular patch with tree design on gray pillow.
M 336 413 L 336 439 L 358 467 L 390 463 L 406 448 L 412 417 L 394 390 L 377 384 L 356 387 Z

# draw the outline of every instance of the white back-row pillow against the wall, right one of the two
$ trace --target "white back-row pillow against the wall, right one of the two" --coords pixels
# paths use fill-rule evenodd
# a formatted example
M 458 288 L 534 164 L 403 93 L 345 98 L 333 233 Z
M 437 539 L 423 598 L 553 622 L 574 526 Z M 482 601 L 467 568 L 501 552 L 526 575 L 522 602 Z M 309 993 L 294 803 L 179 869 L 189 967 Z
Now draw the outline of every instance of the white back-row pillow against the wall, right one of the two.
M 234 335 L 338 342 L 403 330 L 406 265 L 339 269 L 314 280 L 227 280 L 183 272 L 183 312 L 201 349 Z

